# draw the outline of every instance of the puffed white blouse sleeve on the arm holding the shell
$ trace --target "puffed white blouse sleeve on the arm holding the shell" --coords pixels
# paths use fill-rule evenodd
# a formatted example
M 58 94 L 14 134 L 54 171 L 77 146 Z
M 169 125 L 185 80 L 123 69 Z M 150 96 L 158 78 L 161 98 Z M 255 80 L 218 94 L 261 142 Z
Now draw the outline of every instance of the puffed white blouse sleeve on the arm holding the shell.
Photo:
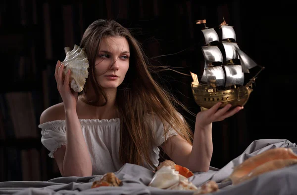
M 53 153 L 66 145 L 66 127 L 62 120 L 49 121 L 38 126 L 41 128 L 41 142 L 49 150 L 49 157 L 53 158 Z

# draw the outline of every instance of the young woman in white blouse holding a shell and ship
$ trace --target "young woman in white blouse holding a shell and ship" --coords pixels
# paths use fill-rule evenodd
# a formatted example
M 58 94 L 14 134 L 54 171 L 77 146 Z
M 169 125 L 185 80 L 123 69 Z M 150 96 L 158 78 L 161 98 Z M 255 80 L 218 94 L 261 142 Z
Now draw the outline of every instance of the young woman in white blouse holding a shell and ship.
M 112 20 L 97 20 L 80 47 L 89 60 L 89 77 L 81 94 L 69 87 L 68 72 L 56 64 L 55 78 L 63 102 L 40 117 L 42 143 L 62 176 L 115 172 L 124 163 L 154 170 L 160 146 L 176 163 L 207 171 L 212 156 L 212 122 L 240 111 L 227 105 L 199 112 L 194 136 L 172 98 L 151 77 L 147 58 L 129 30 Z

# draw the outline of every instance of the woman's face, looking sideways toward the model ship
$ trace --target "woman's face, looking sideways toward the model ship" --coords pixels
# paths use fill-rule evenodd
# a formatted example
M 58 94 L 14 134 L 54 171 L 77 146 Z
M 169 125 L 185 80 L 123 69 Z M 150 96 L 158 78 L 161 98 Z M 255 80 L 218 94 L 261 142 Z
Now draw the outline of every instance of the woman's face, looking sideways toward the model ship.
M 117 88 L 129 69 L 130 50 L 123 37 L 101 40 L 95 61 L 95 75 L 102 88 Z

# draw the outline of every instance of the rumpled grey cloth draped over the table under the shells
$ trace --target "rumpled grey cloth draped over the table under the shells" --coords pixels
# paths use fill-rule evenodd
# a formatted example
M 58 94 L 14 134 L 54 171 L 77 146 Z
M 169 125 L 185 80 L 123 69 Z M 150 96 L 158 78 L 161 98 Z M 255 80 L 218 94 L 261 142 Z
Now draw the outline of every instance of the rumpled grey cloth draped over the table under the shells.
M 208 180 L 219 185 L 227 178 L 234 166 L 245 159 L 273 148 L 292 148 L 297 145 L 285 139 L 260 139 L 253 141 L 238 157 L 223 168 L 211 167 L 208 172 L 196 172 L 189 180 L 197 187 Z M 91 189 L 94 181 L 102 176 L 59 177 L 49 181 L 0 182 L 0 194 L 5 195 L 193 195 L 194 191 L 162 190 L 148 187 L 153 172 L 138 165 L 125 164 L 115 175 L 123 181 L 121 187 Z M 297 165 L 270 171 L 240 185 L 227 185 L 209 195 L 297 195 Z

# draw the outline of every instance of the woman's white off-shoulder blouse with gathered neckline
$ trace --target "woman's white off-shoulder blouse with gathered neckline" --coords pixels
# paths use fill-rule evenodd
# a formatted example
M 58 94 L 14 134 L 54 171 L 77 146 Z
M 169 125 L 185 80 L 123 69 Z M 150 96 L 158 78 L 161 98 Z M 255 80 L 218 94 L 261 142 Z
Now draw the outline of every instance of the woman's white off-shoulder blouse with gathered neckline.
M 83 135 L 88 146 L 92 160 L 93 175 L 103 175 L 106 172 L 115 172 L 123 164 L 119 159 L 120 145 L 120 119 L 80 119 Z M 155 146 L 151 152 L 151 160 L 155 166 L 159 161 L 159 148 L 164 141 L 164 126 L 160 120 L 154 120 Z M 49 150 L 49 157 L 63 145 L 66 145 L 66 123 L 65 120 L 49 121 L 38 126 L 41 128 L 41 142 Z M 166 139 L 178 135 L 174 129 L 166 134 Z M 152 169 L 145 163 L 145 167 Z

